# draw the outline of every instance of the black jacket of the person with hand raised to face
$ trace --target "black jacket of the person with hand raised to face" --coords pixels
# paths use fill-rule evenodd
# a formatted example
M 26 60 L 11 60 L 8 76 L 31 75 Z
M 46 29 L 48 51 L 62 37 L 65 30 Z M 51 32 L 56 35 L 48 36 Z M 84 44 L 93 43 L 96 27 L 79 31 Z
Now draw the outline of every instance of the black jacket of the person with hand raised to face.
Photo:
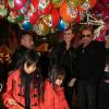
M 65 49 L 65 43 L 57 44 L 51 51 L 50 65 L 61 64 L 66 70 L 68 78 L 74 76 L 74 64 L 75 64 L 75 50 L 71 46 L 69 50 Z

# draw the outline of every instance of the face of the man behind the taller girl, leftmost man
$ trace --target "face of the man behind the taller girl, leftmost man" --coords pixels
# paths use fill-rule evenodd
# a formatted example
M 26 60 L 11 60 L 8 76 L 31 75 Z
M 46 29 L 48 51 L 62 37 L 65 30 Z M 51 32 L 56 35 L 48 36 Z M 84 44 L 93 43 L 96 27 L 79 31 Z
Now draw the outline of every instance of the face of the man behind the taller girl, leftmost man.
M 29 49 L 33 48 L 34 47 L 33 37 L 31 35 L 25 35 L 22 39 L 22 45 Z

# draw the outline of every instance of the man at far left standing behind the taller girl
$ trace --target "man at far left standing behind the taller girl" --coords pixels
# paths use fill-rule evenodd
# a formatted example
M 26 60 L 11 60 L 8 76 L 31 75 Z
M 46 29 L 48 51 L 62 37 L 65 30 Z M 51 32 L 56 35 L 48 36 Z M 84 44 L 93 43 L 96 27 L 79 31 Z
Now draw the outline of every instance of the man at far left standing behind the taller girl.
M 21 46 L 15 50 L 15 52 L 12 55 L 12 63 L 11 63 L 11 70 L 14 70 L 20 61 L 20 59 L 25 55 L 25 52 L 29 49 L 34 48 L 34 40 L 33 37 L 25 33 L 21 36 Z

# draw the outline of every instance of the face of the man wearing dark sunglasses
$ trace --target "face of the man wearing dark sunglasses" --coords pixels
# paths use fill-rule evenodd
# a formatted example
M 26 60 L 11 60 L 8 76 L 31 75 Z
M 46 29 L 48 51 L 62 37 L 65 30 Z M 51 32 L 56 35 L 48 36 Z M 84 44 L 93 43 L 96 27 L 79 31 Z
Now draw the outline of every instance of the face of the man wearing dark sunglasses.
M 82 37 L 83 37 L 83 44 L 88 45 L 93 39 L 92 31 L 83 29 Z

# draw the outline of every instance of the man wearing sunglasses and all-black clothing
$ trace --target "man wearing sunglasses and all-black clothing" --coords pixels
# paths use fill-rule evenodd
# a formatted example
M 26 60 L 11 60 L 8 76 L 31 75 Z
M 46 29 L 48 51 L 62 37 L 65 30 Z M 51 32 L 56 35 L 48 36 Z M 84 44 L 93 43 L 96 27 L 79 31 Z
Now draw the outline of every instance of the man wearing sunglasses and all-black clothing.
M 105 43 L 94 40 L 93 27 L 83 26 L 76 52 L 76 80 L 80 109 L 97 109 L 97 85 L 105 68 Z

